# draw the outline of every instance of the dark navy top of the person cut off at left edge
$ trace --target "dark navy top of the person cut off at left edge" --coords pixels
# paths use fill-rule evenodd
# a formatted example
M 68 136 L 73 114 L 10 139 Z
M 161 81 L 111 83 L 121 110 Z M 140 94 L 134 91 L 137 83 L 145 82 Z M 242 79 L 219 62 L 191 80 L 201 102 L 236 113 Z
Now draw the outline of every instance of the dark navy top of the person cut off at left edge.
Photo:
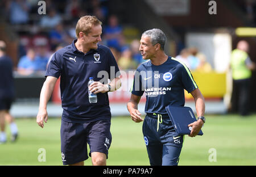
M 14 99 L 13 62 L 4 55 L 0 57 L 0 100 Z

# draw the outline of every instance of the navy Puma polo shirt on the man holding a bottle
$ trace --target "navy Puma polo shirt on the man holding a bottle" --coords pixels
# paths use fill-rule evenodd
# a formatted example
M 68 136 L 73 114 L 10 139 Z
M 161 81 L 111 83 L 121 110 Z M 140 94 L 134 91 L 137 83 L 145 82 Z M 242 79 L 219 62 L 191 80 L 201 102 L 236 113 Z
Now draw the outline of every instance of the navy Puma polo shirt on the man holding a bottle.
M 57 50 L 49 62 L 46 77 L 60 77 L 62 119 L 73 123 L 110 119 L 108 93 L 98 93 L 97 103 L 89 103 L 89 77 L 94 81 L 108 83 L 119 76 L 119 69 L 110 49 L 98 45 L 87 53 L 77 50 L 72 44 Z

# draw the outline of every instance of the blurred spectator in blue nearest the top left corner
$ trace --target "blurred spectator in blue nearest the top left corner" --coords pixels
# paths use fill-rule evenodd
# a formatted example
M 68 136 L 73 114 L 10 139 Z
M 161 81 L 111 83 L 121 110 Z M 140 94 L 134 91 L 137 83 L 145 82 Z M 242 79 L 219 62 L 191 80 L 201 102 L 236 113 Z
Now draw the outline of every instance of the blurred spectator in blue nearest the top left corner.
M 9 3 L 7 2 L 7 11 L 9 11 L 10 23 L 28 23 L 30 6 L 26 0 L 14 0 L 9 1 Z

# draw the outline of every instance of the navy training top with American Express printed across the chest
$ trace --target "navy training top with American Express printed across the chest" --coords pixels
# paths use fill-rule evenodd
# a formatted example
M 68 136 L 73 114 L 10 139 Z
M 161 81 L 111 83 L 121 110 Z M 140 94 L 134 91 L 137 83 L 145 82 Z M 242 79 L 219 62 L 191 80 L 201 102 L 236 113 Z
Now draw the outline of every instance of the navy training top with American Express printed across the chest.
M 143 62 L 136 70 L 131 93 L 146 94 L 146 113 L 167 114 L 166 106 L 184 106 L 184 89 L 191 92 L 197 88 L 187 66 L 173 57 L 155 66 L 151 60 Z

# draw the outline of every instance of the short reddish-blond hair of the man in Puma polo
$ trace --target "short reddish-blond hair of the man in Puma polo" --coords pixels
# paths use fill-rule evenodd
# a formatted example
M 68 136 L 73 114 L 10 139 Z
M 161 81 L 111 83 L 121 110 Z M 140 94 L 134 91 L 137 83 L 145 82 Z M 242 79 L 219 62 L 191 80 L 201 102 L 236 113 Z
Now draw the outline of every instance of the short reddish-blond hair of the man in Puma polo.
M 90 32 L 90 29 L 98 24 L 101 25 L 102 22 L 98 20 L 96 16 L 82 16 L 76 24 L 76 37 L 79 38 L 80 32 L 84 32 L 85 35 L 87 35 Z

